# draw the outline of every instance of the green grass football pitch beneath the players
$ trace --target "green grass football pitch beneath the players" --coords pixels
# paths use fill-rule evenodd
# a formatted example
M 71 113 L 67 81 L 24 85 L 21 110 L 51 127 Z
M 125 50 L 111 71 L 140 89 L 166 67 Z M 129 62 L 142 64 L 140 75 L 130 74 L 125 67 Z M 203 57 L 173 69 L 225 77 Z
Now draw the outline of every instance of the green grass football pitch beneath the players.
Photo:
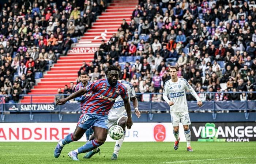
M 187 152 L 185 142 L 180 143 L 177 151 L 173 149 L 173 142 L 124 142 L 117 161 L 110 160 L 114 142 L 106 142 L 101 146 L 100 155 L 83 159 L 83 153 L 78 156 L 80 161 L 71 161 L 68 152 L 83 144 L 66 145 L 56 159 L 53 157 L 56 142 L 0 142 L 0 164 L 256 163 L 256 142 L 192 142 L 194 152 Z

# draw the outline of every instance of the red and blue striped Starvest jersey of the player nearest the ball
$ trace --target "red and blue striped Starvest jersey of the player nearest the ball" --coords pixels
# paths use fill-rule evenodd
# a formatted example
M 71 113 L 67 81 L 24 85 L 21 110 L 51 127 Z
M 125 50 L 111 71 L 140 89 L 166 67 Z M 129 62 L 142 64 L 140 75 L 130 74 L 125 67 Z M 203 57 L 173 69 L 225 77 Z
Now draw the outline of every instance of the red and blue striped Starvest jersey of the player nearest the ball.
M 92 91 L 92 95 L 84 104 L 82 113 L 108 115 L 119 95 L 123 99 L 128 98 L 127 89 L 121 82 L 111 86 L 106 78 L 87 85 L 86 90 Z

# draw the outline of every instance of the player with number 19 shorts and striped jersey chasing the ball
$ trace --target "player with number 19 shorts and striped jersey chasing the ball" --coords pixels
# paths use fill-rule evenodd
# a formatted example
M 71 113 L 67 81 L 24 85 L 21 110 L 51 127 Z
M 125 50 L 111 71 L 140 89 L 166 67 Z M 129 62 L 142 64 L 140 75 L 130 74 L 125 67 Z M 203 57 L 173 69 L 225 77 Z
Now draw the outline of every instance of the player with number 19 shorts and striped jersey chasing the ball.
M 68 134 L 64 140 L 58 142 L 54 149 L 54 157 L 59 157 L 65 144 L 79 140 L 84 132 L 91 126 L 94 130 L 95 139 L 87 142 L 82 147 L 69 152 L 68 156 L 71 157 L 72 160 L 78 161 L 79 159 L 77 156 L 79 153 L 89 152 L 102 145 L 108 136 L 108 112 L 119 95 L 121 95 L 124 100 L 124 106 L 127 112 L 127 128 L 131 129 L 131 106 L 126 87 L 117 81 L 119 73 L 120 69 L 118 67 L 110 65 L 106 70 L 106 79 L 94 81 L 85 88 L 69 95 L 67 98 L 59 99 L 56 102 L 56 105 L 63 105 L 71 99 L 92 91 L 90 99 L 87 100 L 86 104 L 83 106 L 82 115 L 79 118 L 75 132 Z

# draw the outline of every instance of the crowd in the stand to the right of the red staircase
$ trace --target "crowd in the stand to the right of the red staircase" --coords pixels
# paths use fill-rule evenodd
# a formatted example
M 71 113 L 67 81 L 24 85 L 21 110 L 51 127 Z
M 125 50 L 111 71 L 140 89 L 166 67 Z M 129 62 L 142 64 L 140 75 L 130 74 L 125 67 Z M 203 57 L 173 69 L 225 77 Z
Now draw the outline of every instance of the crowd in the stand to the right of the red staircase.
M 86 71 L 93 81 L 113 64 L 136 93 L 162 93 L 168 67 L 176 65 L 178 77 L 187 79 L 202 101 L 256 99 L 253 93 L 247 98 L 223 93 L 255 91 L 255 1 L 140 0 L 139 5 L 131 22 L 123 20 L 108 43 L 102 40 L 94 61 L 83 63 L 79 73 Z M 163 101 L 161 94 L 144 95 L 138 100 Z M 194 100 L 191 94 L 187 98 Z

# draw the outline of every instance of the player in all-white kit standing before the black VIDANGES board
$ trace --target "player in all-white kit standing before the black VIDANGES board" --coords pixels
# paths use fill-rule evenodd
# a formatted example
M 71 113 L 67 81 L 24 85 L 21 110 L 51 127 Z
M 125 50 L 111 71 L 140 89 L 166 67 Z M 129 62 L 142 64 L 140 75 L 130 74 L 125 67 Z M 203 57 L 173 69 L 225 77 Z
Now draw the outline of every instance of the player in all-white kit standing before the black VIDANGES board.
M 187 150 L 192 152 L 193 149 L 190 145 L 190 130 L 189 125 L 191 124 L 189 114 L 188 114 L 188 104 L 186 99 L 186 90 L 189 90 L 193 97 L 197 100 L 197 105 L 202 106 L 202 101 L 196 94 L 195 90 L 189 85 L 189 83 L 182 78 L 177 76 L 178 67 L 169 67 L 169 74 L 171 79 L 165 83 L 163 89 L 163 99 L 170 105 L 170 113 L 173 124 L 173 134 L 176 138 L 174 143 L 174 149 L 177 150 L 179 147 L 179 123 L 182 122 L 185 137 L 187 140 Z M 170 98 L 168 98 L 168 97 Z

